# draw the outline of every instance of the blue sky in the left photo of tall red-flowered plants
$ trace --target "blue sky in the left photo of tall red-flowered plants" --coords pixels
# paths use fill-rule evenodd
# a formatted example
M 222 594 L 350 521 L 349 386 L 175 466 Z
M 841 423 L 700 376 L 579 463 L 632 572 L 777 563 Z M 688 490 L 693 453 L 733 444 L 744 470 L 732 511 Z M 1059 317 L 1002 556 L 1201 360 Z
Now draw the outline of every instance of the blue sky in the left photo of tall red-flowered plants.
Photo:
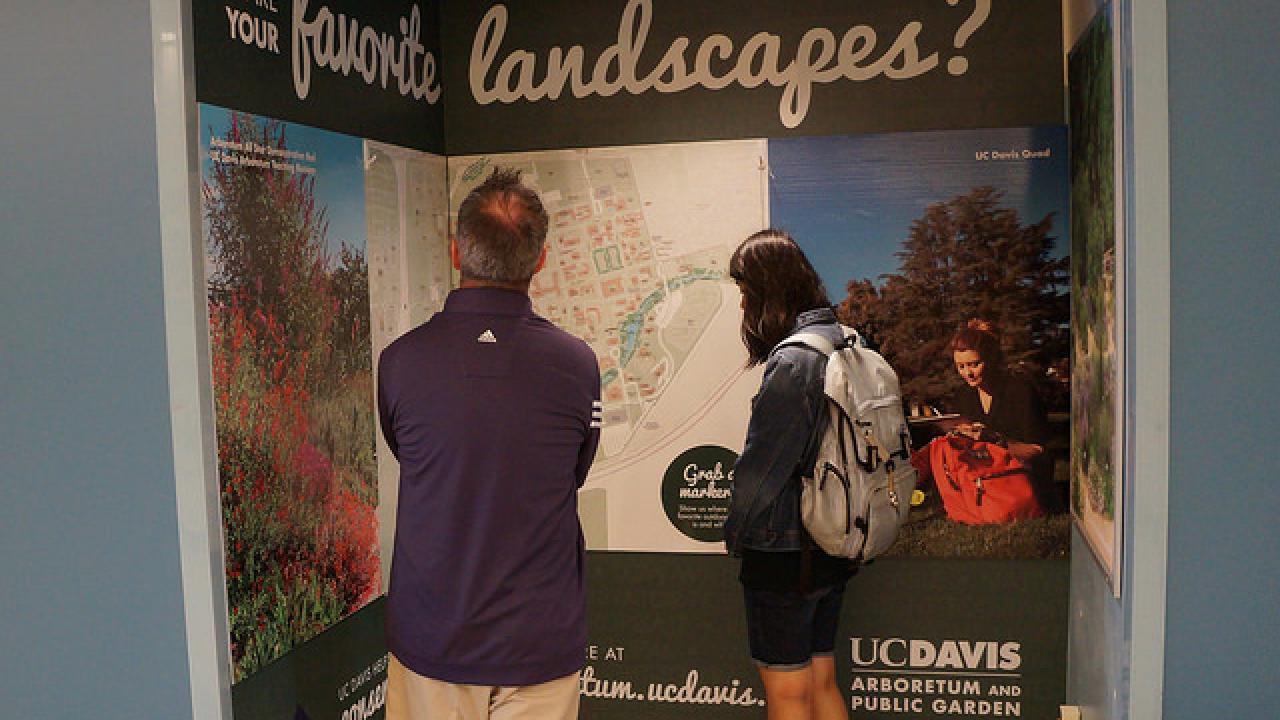
M 209 142 L 216 133 L 225 137 L 232 124 L 232 110 L 216 105 L 200 105 L 200 172 L 209 177 L 214 161 Z M 283 120 L 282 120 L 283 122 Z M 316 156 L 316 209 L 325 209 L 329 232 L 325 237 L 330 261 L 337 263 L 338 249 L 346 242 L 361 251 L 366 247 L 364 141 L 358 137 L 329 132 L 298 123 L 284 123 L 284 142 L 289 150 L 314 152 Z

